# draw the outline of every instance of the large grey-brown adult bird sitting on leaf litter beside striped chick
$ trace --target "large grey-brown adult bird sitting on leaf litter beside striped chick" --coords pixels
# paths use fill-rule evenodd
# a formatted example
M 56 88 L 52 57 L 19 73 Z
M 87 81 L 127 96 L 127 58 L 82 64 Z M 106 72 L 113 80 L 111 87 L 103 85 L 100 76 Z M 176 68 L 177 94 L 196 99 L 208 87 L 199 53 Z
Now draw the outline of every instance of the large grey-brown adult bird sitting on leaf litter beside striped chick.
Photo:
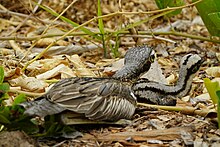
M 42 118 L 69 111 L 96 121 L 131 119 L 137 99 L 128 81 L 134 81 L 143 72 L 147 72 L 153 60 L 152 48 L 131 48 L 125 55 L 124 67 L 113 77 L 62 79 L 46 94 L 34 101 L 21 103 L 20 106 L 25 108 L 25 115 Z

